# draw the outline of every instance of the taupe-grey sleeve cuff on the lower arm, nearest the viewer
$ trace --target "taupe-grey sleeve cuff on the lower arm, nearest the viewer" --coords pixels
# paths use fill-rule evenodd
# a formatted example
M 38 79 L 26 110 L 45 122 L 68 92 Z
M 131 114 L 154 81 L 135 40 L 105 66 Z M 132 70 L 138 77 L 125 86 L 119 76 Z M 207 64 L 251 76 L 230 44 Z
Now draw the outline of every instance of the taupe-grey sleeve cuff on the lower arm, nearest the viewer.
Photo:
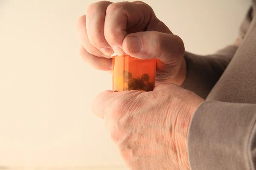
M 256 105 L 203 102 L 188 135 L 192 170 L 254 170 Z

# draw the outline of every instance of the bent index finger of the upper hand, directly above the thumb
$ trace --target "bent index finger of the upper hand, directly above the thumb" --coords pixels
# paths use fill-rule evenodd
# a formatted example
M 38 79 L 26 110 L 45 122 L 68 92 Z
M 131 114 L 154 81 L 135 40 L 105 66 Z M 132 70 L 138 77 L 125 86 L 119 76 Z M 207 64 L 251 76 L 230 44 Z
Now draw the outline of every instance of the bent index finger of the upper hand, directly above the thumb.
M 106 10 L 104 35 L 117 55 L 123 55 L 122 42 L 131 32 L 145 31 L 152 9 L 142 2 L 112 3 Z

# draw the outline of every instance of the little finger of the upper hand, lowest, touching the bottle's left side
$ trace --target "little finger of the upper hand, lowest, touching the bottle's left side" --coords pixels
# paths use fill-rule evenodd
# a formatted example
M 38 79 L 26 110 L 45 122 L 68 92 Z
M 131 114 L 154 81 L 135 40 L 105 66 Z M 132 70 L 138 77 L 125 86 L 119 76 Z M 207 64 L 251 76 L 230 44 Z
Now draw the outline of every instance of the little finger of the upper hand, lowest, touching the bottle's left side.
M 80 47 L 80 55 L 93 68 L 102 71 L 110 71 L 112 70 L 112 58 L 107 59 L 103 57 L 97 57 L 93 54 L 88 53 L 85 48 L 81 45 Z

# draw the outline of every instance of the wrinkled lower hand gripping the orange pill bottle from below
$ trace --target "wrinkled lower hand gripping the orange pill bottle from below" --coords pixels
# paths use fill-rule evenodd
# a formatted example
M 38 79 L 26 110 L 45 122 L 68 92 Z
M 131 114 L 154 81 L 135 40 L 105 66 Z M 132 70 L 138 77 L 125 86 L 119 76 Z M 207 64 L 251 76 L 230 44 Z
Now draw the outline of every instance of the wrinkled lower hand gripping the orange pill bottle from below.
M 204 102 L 191 91 L 168 83 L 154 91 L 105 91 L 93 101 L 111 139 L 131 170 L 189 170 L 190 121 Z

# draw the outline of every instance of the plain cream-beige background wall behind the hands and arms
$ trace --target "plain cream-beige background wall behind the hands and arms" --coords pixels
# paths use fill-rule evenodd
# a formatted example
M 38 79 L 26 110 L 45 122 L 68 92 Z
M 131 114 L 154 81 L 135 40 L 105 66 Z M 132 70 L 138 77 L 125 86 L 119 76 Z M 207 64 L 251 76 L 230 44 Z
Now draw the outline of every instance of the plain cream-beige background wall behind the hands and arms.
M 125 169 L 103 121 L 90 109 L 97 93 L 111 89 L 111 75 L 93 70 L 78 55 L 76 19 L 93 2 L 0 0 L 0 166 Z M 232 43 L 250 5 L 145 2 L 183 38 L 187 51 L 198 54 Z

